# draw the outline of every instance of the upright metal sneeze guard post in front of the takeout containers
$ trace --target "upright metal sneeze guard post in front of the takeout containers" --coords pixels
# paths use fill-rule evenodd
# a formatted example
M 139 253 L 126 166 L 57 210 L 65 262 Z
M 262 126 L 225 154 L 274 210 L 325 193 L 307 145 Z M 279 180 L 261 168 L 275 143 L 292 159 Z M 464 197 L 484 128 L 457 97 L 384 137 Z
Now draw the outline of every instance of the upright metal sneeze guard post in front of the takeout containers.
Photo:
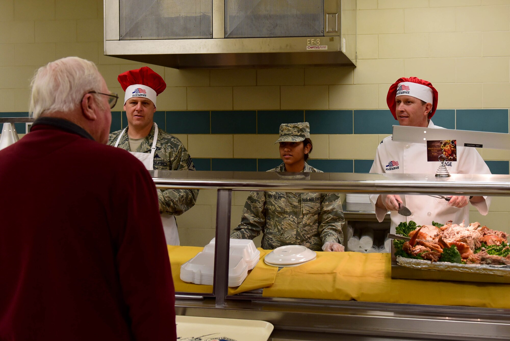
M 225 304 L 228 294 L 228 258 L 230 253 L 230 213 L 232 190 L 218 189 L 216 204 L 216 242 L 214 245 L 214 286 L 216 305 Z M 226 252 L 224 252 L 226 250 Z

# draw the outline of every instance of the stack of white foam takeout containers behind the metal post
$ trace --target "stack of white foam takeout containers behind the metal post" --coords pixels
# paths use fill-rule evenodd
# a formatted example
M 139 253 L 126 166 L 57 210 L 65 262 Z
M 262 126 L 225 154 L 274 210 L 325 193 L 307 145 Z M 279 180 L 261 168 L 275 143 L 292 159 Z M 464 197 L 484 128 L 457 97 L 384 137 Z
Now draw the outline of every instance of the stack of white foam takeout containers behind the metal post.
M 213 285 L 214 281 L 214 242 L 203 248 L 195 257 L 181 265 L 181 279 L 195 284 Z M 231 239 L 228 260 L 228 286 L 239 286 L 259 261 L 260 251 L 252 240 Z

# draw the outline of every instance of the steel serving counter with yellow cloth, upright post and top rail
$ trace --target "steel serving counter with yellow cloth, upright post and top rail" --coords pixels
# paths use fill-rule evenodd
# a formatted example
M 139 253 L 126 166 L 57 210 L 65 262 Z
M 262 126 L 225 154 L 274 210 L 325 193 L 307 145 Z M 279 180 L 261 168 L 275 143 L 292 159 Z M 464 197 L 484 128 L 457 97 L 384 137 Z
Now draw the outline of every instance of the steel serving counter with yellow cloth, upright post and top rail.
M 319 252 L 314 262 L 280 271 L 266 271 L 259 261 L 261 265 L 252 270 L 245 283 L 229 290 L 225 252 L 230 241 L 232 190 L 510 196 L 507 175 L 453 175 L 438 180 L 433 175 L 417 174 L 152 174 L 158 188 L 218 190 L 214 285 L 180 291 L 183 287 L 176 278 L 180 262 L 200 248 L 169 247 L 176 291 L 180 291 L 176 295 L 177 314 L 268 321 L 275 327 L 273 339 L 341 335 L 356 340 L 367 335 L 377 335 L 378 339 L 509 338 L 510 287 L 506 284 L 392 280 L 389 254 Z

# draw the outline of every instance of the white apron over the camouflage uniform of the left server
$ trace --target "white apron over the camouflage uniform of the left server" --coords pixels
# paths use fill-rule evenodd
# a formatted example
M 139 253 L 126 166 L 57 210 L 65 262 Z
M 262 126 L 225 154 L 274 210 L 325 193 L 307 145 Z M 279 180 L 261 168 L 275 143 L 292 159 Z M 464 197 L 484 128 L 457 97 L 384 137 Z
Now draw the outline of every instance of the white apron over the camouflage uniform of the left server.
M 120 139 L 124 135 L 127 127 L 122 130 L 115 142 L 115 147 L 119 146 Z M 130 152 L 131 155 L 140 160 L 147 171 L 154 171 L 154 154 L 156 154 L 156 142 L 158 141 L 158 125 L 154 123 L 154 139 L 152 140 L 152 147 L 150 153 L 137 153 Z M 161 223 L 163 224 L 163 231 L 165 232 L 165 239 L 167 245 L 179 245 L 179 232 L 177 232 L 177 222 L 175 217 L 171 214 L 161 213 Z

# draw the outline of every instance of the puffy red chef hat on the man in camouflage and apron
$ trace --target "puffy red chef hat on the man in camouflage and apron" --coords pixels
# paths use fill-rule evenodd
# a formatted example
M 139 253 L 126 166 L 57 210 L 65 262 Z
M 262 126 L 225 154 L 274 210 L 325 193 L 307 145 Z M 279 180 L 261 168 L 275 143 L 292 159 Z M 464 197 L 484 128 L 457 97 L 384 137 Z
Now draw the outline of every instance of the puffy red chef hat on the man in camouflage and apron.
M 147 66 L 122 72 L 117 80 L 125 91 L 124 104 L 130 98 L 145 97 L 156 106 L 156 96 L 166 88 L 163 78 Z

